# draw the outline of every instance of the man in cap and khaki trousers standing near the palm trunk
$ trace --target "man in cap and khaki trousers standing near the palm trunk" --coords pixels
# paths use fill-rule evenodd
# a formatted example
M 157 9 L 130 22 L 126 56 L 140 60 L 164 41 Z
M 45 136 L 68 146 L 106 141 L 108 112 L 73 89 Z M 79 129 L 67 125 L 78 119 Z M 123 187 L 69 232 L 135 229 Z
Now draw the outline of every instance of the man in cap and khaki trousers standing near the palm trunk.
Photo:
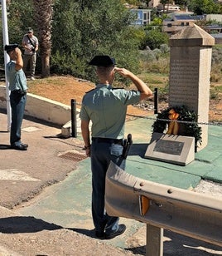
M 25 49 L 23 70 L 27 75 L 27 65 L 29 64 L 31 80 L 35 80 L 36 52 L 38 51 L 39 42 L 38 38 L 33 35 L 33 29 L 31 27 L 28 27 L 27 34 L 22 39 L 22 47 Z

